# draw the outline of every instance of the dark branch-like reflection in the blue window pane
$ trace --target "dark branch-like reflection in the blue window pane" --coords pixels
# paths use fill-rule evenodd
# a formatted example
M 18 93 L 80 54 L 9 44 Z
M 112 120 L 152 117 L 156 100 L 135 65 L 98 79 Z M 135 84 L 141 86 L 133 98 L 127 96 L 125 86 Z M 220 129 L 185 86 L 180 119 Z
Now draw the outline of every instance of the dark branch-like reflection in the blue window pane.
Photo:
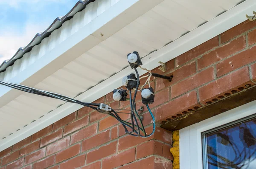
M 235 158 L 230 160 L 218 155 L 216 153 L 216 148 L 207 145 L 207 157 L 209 164 L 221 169 L 247 169 L 249 167 L 250 162 L 256 159 L 256 140 L 249 129 L 250 127 L 245 123 L 244 125 L 245 127 L 239 126 L 239 138 L 243 143 L 243 149 L 238 148 L 238 146 L 241 145 L 237 145 L 238 142 L 233 141 L 231 136 L 221 132 L 216 133 L 217 141 L 224 146 L 232 148 Z

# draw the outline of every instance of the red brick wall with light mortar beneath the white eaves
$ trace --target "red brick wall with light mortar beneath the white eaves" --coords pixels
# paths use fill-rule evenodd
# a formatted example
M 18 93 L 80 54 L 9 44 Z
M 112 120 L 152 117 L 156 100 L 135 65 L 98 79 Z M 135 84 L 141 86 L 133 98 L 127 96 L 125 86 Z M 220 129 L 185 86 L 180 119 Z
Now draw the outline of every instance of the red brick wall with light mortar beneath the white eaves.
M 174 75 L 172 82 L 151 80 L 155 102 L 150 107 L 160 124 L 253 87 L 256 22 L 246 21 L 210 39 L 167 62 L 166 69 L 152 70 Z M 137 98 L 139 108 L 140 93 Z M 112 93 L 95 102 L 129 109 L 128 101 L 113 101 Z M 120 116 L 129 120 L 127 114 Z M 146 110 L 143 117 L 149 132 Z M 0 152 L 0 169 L 171 169 L 171 145 L 170 131 L 157 127 L 150 138 L 128 136 L 116 119 L 84 107 Z

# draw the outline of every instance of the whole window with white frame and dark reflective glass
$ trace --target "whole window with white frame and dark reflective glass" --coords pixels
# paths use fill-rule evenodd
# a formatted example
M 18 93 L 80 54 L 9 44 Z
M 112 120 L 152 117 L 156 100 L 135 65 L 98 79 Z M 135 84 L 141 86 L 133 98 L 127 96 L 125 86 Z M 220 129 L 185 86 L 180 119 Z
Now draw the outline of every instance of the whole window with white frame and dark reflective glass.
M 256 101 L 180 130 L 180 169 L 256 169 Z

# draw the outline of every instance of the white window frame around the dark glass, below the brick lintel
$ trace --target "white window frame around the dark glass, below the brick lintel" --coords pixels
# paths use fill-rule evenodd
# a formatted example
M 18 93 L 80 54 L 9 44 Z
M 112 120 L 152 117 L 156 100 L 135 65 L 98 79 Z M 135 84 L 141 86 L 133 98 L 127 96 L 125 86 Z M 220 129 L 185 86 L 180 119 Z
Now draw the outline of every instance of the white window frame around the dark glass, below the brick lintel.
M 256 113 L 256 101 L 180 130 L 180 169 L 203 169 L 201 133 Z

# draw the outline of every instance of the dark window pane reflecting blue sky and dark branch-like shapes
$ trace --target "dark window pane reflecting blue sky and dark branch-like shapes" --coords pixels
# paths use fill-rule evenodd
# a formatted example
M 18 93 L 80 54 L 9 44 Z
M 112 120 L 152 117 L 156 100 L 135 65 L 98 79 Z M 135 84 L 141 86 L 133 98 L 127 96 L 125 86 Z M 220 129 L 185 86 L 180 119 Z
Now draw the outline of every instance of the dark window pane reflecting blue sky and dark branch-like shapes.
M 256 118 L 202 136 L 204 169 L 256 169 Z

